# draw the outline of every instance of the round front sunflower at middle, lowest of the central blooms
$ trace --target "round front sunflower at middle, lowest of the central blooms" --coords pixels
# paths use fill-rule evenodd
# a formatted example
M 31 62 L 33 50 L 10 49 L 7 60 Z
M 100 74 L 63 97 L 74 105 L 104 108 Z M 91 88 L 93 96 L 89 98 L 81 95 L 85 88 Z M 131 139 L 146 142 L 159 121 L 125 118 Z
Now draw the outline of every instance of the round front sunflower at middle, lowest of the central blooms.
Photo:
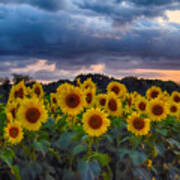
M 89 136 L 99 137 L 106 133 L 110 120 L 107 114 L 99 108 L 92 108 L 83 114 L 83 129 Z

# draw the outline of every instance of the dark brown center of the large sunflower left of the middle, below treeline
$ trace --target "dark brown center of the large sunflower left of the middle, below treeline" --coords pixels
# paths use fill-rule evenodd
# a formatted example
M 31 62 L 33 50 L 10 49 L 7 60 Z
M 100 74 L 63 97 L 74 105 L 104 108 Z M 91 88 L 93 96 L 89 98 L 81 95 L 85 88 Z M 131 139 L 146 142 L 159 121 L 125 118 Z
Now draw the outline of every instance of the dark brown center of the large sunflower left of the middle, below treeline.
M 80 103 L 80 97 L 77 94 L 69 94 L 66 97 L 66 104 L 70 108 L 76 108 Z

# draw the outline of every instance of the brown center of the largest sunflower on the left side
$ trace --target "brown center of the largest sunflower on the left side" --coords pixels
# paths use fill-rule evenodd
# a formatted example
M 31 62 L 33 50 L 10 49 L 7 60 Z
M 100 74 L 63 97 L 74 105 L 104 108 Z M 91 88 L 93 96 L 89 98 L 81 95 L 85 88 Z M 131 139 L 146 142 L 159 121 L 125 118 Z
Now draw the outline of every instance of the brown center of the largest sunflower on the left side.
M 40 118 L 40 111 L 37 108 L 29 108 L 26 111 L 26 119 L 28 120 L 28 122 L 30 123 L 36 123 L 38 121 L 38 119 Z

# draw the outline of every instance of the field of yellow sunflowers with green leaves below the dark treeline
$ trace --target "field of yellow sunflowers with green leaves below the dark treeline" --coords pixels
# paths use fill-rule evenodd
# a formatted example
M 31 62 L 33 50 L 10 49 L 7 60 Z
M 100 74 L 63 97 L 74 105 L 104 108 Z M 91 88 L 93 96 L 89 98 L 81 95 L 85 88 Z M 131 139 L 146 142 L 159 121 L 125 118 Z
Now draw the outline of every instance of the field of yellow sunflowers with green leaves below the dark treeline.
M 21 81 L 0 104 L 0 144 L 0 179 L 178 180 L 180 92 Z

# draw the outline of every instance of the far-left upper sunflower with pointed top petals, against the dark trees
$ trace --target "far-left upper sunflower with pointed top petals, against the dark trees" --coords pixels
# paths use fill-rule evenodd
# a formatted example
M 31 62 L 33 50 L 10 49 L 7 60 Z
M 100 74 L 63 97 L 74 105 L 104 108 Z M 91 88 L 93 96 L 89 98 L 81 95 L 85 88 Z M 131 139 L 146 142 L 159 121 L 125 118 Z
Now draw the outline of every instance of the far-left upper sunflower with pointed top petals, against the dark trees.
M 26 95 L 26 86 L 24 80 L 16 85 L 13 85 L 9 94 L 9 101 L 17 100 L 18 98 L 23 99 Z

